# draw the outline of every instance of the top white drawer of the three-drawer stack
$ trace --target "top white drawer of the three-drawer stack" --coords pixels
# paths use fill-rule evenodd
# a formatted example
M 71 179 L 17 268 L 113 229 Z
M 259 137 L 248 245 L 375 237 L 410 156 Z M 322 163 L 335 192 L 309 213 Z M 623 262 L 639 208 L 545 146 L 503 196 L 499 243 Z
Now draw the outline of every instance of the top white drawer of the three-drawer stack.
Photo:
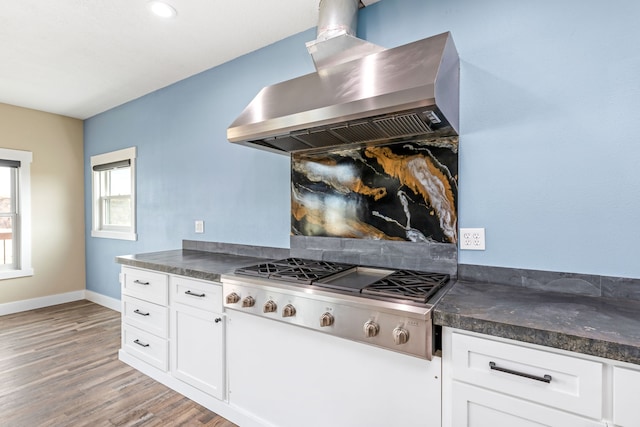
M 169 276 L 149 270 L 122 267 L 122 293 L 155 304 L 169 302 Z

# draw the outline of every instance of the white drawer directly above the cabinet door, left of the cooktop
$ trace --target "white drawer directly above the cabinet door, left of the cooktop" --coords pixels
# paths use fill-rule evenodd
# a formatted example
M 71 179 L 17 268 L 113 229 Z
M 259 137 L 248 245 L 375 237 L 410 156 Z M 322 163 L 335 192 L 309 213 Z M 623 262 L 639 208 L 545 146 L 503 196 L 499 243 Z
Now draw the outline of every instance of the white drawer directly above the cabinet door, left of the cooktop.
M 171 302 L 222 312 L 222 284 L 171 276 Z

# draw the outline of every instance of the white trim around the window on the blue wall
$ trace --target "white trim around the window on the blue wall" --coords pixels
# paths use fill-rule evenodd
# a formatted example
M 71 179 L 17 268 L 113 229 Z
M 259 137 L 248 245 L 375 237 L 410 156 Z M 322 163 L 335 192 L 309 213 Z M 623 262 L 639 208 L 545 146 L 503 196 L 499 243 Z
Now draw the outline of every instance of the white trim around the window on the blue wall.
M 91 237 L 101 237 L 105 239 L 137 240 L 136 234 L 136 147 L 125 148 L 104 154 L 91 156 L 91 199 L 93 225 L 91 227 Z M 100 201 L 96 197 L 97 183 L 94 181 L 95 165 L 130 160 L 131 162 L 131 231 L 100 230 Z

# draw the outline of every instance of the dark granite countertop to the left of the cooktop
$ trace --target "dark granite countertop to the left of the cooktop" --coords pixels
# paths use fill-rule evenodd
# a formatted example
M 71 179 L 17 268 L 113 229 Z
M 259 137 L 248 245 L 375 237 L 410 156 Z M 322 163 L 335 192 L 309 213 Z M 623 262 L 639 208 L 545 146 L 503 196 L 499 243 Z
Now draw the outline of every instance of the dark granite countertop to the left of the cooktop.
M 122 265 L 212 282 L 219 282 L 221 274 L 231 273 L 238 267 L 246 267 L 262 261 L 265 261 L 265 258 L 189 249 L 116 257 L 116 262 Z

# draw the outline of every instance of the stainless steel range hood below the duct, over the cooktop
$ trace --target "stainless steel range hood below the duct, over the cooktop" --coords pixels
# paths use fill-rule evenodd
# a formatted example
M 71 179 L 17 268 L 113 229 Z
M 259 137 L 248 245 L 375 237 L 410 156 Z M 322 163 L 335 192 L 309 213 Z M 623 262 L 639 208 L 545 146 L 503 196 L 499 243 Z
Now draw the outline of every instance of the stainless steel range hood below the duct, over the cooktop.
M 450 33 L 262 89 L 227 129 L 280 153 L 458 134 L 459 59 Z

